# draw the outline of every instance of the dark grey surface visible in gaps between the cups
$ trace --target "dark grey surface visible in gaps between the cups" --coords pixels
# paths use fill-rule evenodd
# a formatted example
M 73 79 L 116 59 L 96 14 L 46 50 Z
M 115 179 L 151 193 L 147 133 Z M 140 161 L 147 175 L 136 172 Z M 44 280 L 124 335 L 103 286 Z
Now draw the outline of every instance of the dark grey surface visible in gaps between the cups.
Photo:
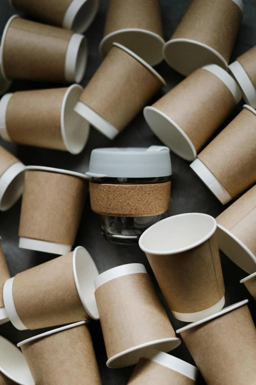
M 177 27 L 181 17 L 188 7 L 189 2 L 189 0 L 160 0 L 164 36 L 166 40 L 169 39 Z M 238 34 L 237 42 L 233 50 L 231 58 L 232 61 L 238 55 L 247 51 L 256 44 L 256 1 L 244 0 L 244 3 L 244 18 Z M 102 62 L 102 58 L 98 52 L 98 46 L 103 35 L 106 6 L 107 0 L 100 0 L 100 11 L 93 25 L 86 32 L 86 36 L 88 37 L 89 41 L 89 61 L 85 78 L 82 82 L 83 86 L 86 86 Z M 1 32 L 4 29 L 8 18 L 12 14 L 14 14 L 14 11 L 10 8 L 8 0 L 0 0 Z M 163 94 L 163 92 L 172 89 L 183 79 L 181 75 L 173 71 L 164 61 L 156 68 L 167 81 L 167 86 L 162 92 L 156 95 L 155 100 L 158 99 Z M 59 87 L 59 85 L 15 81 L 10 91 L 50 87 Z M 242 104 L 237 107 L 235 113 L 232 117 L 230 117 L 230 119 L 240 111 L 241 107 Z M 227 124 L 227 122 L 225 124 Z M 144 121 L 142 113 L 137 118 L 135 118 L 134 121 L 132 121 L 114 141 L 108 140 L 102 136 L 102 134 L 92 128 L 85 150 L 76 156 L 61 151 L 16 146 L 15 144 L 9 144 L 0 139 L 0 145 L 10 150 L 26 165 L 59 167 L 79 172 L 85 172 L 87 170 L 90 153 L 94 148 L 112 146 L 147 147 L 158 144 L 160 144 L 159 140 L 154 136 L 153 132 Z M 205 187 L 199 178 L 196 177 L 194 172 L 190 169 L 189 163 L 180 159 L 173 153 L 171 154 L 171 158 L 173 165 L 172 198 L 168 216 L 184 212 L 204 212 L 216 217 L 221 211 L 223 211 L 223 206 L 221 203 L 219 203 L 219 201 Z M 20 209 L 21 200 L 11 210 L 5 213 L 0 212 L 0 236 L 3 238 L 3 249 L 12 276 L 20 271 L 28 269 L 29 267 L 44 263 L 55 257 L 51 254 L 33 252 L 18 248 Z M 100 272 L 119 265 L 140 262 L 145 264 L 147 270 L 152 274 L 152 270 L 147 262 L 146 256 L 138 246 L 114 245 L 108 243 L 102 237 L 100 226 L 97 221 L 97 216 L 91 211 L 89 200 L 87 201 L 83 212 L 81 225 L 76 240 L 76 246 L 77 245 L 82 245 L 88 249 Z M 221 262 L 226 284 L 226 305 L 230 305 L 242 299 L 249 298 L 250 310 L 253 314 L 254 320 L 256 321 L 255 303 L 245 289 L 244 285 L 239 283 L 239 280 L 245 277 L 247 274 L 232 264 L 232 262 L 223 254 L 221 254 Z M 161 296 L 157 285 L 155 286 L 159 296 Z M 161 299 L 163 300 L 162 296 Z M 166 306 L 165 302 L 164 305 Z M 166 310 L 175 329 L 183 325 L 183 323 L 174 319 L 167 307 Z M 127 384 L 133 367 L 124 369 L 108 369 L 105 365 L 107 358 L 100 322 L 92 322 L 90 328 L 102 376 L 102 384 Z M 39 334 L 39 332 L 41 332 L 41 330 L 21 332 L 16 330 L 10 323 L 0 326 L 0 334 L 15 344 L 32 335 Z M 243 332 L 242 325 L 241 332 Z M 193 359 L 188 353 L 183 342 L 179 348 L 172 352 L 172 354 L 190 363 L 193 363 Z M 210 355 L 210 352 L 208 352 L 208 354 Z M 199 377 L 198 384 L 205 384 L 201 376 Z

